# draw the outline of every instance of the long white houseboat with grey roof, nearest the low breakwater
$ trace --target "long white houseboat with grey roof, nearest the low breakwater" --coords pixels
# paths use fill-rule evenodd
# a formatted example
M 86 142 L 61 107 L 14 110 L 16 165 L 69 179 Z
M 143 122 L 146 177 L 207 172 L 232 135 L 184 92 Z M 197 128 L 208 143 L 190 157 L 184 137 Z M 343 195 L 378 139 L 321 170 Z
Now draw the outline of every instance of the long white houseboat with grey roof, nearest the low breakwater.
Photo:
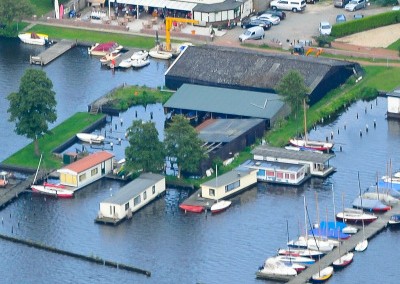
M 96 222 L 117 224 L 165 192 L 165 177 L 143 173 L 100 203 Z

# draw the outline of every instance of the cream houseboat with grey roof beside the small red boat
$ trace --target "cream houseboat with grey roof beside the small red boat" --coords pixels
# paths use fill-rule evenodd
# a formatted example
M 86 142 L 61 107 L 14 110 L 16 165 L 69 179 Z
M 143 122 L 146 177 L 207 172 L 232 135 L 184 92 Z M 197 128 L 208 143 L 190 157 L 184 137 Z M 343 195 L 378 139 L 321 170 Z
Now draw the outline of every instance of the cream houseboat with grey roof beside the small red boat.
M 227 198 L 257 183 L 257 170 L 239 167 L 200 185 L 201 197 Z

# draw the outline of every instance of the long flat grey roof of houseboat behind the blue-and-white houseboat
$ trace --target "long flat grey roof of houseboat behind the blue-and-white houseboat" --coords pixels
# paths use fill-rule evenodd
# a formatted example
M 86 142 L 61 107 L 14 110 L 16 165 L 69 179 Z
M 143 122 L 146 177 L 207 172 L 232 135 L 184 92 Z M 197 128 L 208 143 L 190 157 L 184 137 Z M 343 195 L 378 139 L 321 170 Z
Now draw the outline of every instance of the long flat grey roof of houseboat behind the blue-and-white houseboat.
M 277 148 L 267 145 L 258 146 L 253 151 L 251 151 L 251 153 L 253 155 L 259 155 L 263 157 L 293 159 L 293 160 L 308 161 L 320 164 L 326 163 L 335 156 L 333 154 L 325 154 L 325 153 L 320 154 L 310 151 L 293 151 L 293 150 L 287 150 L 285 148 Z

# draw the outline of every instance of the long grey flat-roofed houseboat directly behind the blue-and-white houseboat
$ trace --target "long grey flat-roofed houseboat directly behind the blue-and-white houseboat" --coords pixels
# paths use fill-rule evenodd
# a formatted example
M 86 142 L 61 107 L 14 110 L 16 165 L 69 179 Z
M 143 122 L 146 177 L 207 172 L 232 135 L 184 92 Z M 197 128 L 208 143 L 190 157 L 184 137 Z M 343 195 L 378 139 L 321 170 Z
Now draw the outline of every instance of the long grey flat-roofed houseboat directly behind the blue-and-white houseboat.
M 293 151 L 285 148 L 261 145 L 253 151 L 256 161 L 280 162 L 293 165 L 306 165 L 307 174 L 317 177 L 326 177 L 336 169 L 329 165 L 329 160 L 335 155 L 315 153 L 311 151 Z

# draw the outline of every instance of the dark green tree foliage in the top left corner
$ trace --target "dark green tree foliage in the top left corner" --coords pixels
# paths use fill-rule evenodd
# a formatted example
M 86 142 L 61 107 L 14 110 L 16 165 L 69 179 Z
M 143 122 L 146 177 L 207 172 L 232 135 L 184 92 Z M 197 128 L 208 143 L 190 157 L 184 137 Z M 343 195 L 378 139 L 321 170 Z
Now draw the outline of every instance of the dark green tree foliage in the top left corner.
M 32 16 L 33 11 L 33 6 L 28 0 L 1 0 L 0 22 L 10 26 L 13 21 Z

